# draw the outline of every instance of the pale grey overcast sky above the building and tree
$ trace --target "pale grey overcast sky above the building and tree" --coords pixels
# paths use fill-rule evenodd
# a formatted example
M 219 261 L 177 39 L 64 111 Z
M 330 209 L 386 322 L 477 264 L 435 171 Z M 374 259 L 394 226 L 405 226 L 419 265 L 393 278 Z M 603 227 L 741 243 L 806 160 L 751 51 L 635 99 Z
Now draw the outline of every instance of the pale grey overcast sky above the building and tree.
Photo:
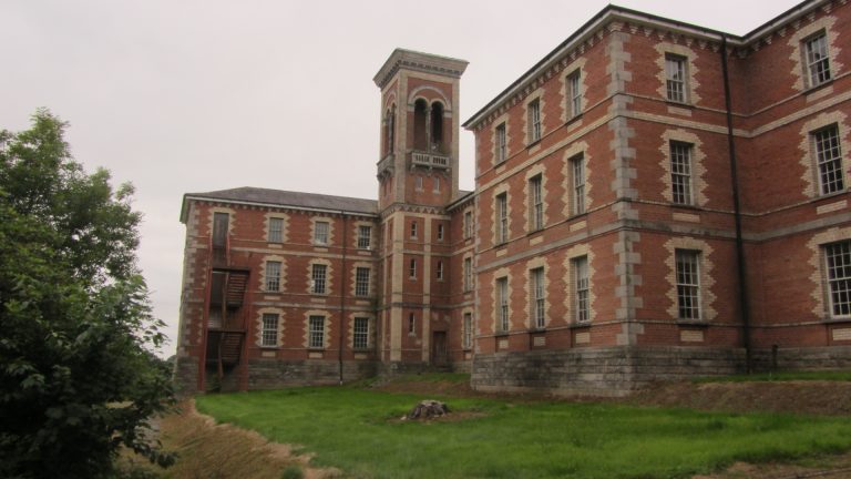
M 262 186 L 376 198 L 379 91 L 397 47 L 470 62 L 462 122 L 606 1 L 0 0 L 0 129 L 39 106 L 74 157 L 136 186 L 141 266 L 174 351 L 184 193 Z M 622 0 L 735 34 L 793 0 Z M 427 6 L 427 7 L 424 7 Z M 461 188 L 473 188 L 472 133 Z M 321 179 L 321 180 L 320 180 Z

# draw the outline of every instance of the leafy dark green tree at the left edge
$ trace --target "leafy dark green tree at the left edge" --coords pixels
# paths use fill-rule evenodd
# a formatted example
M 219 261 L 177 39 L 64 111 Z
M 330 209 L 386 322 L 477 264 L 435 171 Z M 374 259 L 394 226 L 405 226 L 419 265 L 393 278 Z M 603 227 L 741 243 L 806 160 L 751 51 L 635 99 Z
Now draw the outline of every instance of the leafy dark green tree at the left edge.
M 111 477 L 122 446 L 173 404 L 136 266 L 133 188 L 86 174 L 47 110 L 0 132 L 0 477 Z

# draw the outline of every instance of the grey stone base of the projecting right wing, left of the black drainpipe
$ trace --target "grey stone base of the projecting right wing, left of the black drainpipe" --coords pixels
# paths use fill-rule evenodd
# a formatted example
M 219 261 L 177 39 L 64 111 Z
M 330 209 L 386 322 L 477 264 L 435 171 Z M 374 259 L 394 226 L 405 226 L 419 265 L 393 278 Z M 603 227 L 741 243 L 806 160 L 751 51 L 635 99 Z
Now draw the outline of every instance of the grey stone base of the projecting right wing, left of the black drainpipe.
M 744 370 L 745 350 L 609 347 L 478 355 L 472 387 L 482 391 L 625 396 L 653 381 Z

